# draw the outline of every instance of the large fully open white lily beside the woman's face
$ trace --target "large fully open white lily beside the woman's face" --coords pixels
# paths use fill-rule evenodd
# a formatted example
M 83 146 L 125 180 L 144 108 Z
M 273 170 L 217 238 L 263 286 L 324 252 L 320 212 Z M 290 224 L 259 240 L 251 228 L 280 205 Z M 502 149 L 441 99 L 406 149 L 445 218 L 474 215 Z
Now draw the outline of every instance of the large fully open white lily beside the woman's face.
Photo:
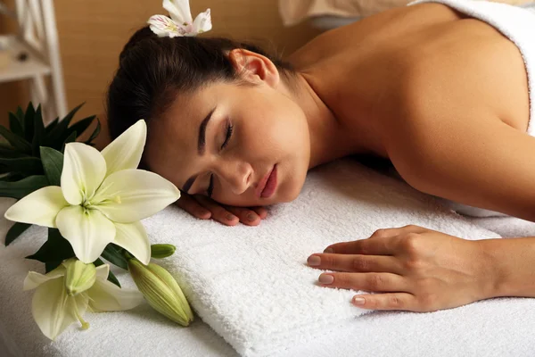
M 136 170 L 143 154 L 146 124 L 139 120 L 100 153 L 94 147 L 65 147 L 61 187 L 23 197 L 5 218 L 58 228 L 78 259 L 95 262 L 114 243 L 148 264 L 151 246 L 139 220 L 177 201 L 180 191 L 161 176 Z

